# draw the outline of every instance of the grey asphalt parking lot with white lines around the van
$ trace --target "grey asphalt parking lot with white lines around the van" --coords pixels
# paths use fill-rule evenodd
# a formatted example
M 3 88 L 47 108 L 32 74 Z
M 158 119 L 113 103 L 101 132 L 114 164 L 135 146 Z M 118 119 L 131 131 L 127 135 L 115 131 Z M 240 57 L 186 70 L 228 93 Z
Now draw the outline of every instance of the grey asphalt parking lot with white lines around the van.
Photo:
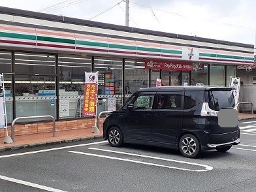
M 197 159 L 102 139 L 0 152 L 0 191 L 256 191 L 256 121 L 240 129 L 240 145 Z

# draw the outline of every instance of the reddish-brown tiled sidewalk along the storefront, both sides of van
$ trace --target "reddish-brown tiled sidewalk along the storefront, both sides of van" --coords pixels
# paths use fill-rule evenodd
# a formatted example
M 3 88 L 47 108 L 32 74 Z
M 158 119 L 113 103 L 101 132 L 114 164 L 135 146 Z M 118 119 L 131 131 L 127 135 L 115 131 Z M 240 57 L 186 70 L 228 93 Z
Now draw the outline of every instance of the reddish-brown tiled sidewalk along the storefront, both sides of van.
M 256 119 L 256 114 L 238 114 L 238 118 L 239 120 Z M 92 138 L 102 138 L 102 127 L 100 127 L 101 133 L 92 133 L 92 130 L 93 129 L 87 128 L 69 131 L 57 131 L 56 137 L 52 137 L 52 133 L 15 136 L 15 142 L 12 144 L 3 144 L 3 138 L 0 138 L 0 151 L 16 150 L 32 146 L 42 146 L 46 144 L 57 144 L 61 142 L 88 140 Z

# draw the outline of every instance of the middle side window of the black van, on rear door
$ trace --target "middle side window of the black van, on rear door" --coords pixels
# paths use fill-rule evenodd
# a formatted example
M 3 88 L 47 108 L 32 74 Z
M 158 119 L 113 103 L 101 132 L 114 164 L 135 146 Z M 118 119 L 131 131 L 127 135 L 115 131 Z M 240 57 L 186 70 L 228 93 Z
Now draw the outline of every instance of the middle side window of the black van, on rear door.
M 157 109 L 182 108 L 182 95 L 158 95 Z

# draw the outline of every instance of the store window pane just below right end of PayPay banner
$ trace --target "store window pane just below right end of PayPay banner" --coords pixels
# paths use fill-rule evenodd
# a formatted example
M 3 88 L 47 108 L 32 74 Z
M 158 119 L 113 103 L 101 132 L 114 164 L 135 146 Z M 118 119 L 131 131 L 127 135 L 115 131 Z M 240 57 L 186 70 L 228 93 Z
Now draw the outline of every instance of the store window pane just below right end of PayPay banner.
M 191 71 L 191 86 L 196 85 L 208 86 L 208 65 L 202 71 Z

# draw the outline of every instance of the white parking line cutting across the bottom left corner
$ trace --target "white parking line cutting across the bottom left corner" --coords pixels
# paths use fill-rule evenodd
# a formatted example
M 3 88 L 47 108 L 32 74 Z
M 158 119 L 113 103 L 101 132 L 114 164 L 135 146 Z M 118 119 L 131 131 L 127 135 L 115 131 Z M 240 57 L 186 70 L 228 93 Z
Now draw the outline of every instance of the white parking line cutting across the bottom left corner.
M 1 180 L 6 180 L 8 182 L 14 182 L 16 184 L 22 184 L 22 185 L 27 185 L 29 187 L 35 187 L 37 189 L 43 189 L 43 190 L 46 190 L 46 191 L 52 191 L 52 192 L 65 192 L 65 191 L 62 191 L 62 190 L 59 190 L 59 189 L 54 189 L 52 187 L 46 187 L 44 185 L 39 185 L 39 184 L 33 184 L 31 182 L 25 182 L 23 180 L 17 180 L 17 179 L 14 179 L 14 178 L 9 178 L 9 177 L 6 177 L 6 176 L 1 176 L 0 175 L 0 179 Z

